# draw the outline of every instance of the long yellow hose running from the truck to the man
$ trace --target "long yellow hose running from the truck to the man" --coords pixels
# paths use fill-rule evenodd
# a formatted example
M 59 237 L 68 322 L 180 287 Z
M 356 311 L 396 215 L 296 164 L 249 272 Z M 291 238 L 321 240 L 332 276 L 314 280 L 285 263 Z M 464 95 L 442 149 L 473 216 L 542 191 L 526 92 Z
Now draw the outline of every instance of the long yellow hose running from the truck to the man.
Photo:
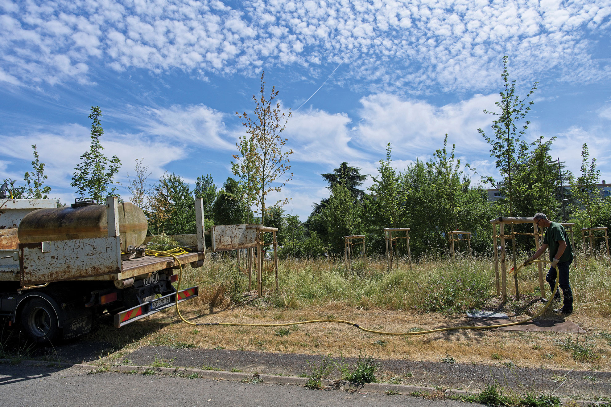
M 175 254 L 178 249 L 182 250 L 182 252 Z M 178 254 L 187 253 L 187 251 L 184 250 L 183 248 L 176 248 L 176 249 L 172 249 L 172 250 L 169 250 L 169 251 L 147 250 L 147 254 L 149 254 L 149 252 L 153 256 L 158 256 L 158 257 L 170 257 L 171 256 L 172 258 L 175 259 L 175 261 L 178 263 L 178 283 L 177 283 L 176 291 L 177 292 L 180 291 L 180 281 L 181 281 L 182 276 L 183 276 L 183 267 L 180 264 L 180 260 L 177 258 L 177 255 Z M 531 264 L 537 263 L 537 262 L 551 263 L 550 261 L 547 261 L 547 260 L 535 260 Z M 518 271 L 522 267 L 524 267 L 524 264 L 518 265 L 518 268 L 516 268 L 515 272 L 518 273 Z M 558 266 L 556 266 L 555 268 L 556 268 L 556 275 L 560 276 L 560 270 L 558 270 Z M 400 336 L 424 335 L 424 334 L 430 334 L 430 333 L 434 333 L 434 332 L 444 332 L 444 331 L 453 331 L 453 330 L 491 330 L 491 329 L 496 329 L 496 328 L 503 328 L 503 326 L 519 325 L 519 324 L 524 323 L 524 322 L 529 322 L 530 320 L 533 320 L 536 317 L 538 317 L 541 314 L 543 314 L 543 312 L 545 312 L 545 310 L 549 307 L 549 305 L 552 303 L 552 301 L 554 301 L 554 295 L 556 294 L 556 292 L 558 290 L 558 283 L 559 282 L 560 282 L 560 278 L 557 278 L 556 279 L 556 285 L 554 286 L 554 291 L 549 296 L 549 300 L 547 300 L 547 303 L 543 306 L 543 308 L 541 308 L 535 315 L 533 315 L 530 318 L 523 319 L 521 321 L 516 321 L 516 322 L 502 323 L 502 324 L 499 324 L 499 325 L 448 326 L 447 328 L 437 328 L 435 330 L 416 331 L 416 332 L 386 332 L 386 331 L 368 330 L 367 328 L 363 328 L 362 326 L 360 326 L 357 323 L 350 322 L 350 321 L 345 321 L 345 320 L 340 320 L 340 319 L 317 319 L 317 320 L 310 320 L 310 321 L 287 322 L 287 323 L 237 323 L 237 322 L 235 322 L 235 323 L 234 322 L 203 322 L 203 323 L 200 322 L 200 323 L 194 323 L 194 322 L 190 322 L 190 321 L 186 320 L 183 317 L 183 315 L 180 314 L 180 309 L 178 309 L 178 298 L 176 299 L 176 312 L 178 314 L 178 317 L 180 317 L 180 319 L 183 320 L 183 322 L 186 322 L 189 325 L 291 326 L 291 325 L 302 325 L 304 323 L 334 322 L 334 323 L 345 323 L 346 325 L 352 325 L 352 326 L 354 326 L 356 328 L 359 328 L 359 330 L 361 330 L 361 331 L 365 331 L 365 332 L 372 333 L 372 334 L 379 334 L 379 335 L 400 335 Z

